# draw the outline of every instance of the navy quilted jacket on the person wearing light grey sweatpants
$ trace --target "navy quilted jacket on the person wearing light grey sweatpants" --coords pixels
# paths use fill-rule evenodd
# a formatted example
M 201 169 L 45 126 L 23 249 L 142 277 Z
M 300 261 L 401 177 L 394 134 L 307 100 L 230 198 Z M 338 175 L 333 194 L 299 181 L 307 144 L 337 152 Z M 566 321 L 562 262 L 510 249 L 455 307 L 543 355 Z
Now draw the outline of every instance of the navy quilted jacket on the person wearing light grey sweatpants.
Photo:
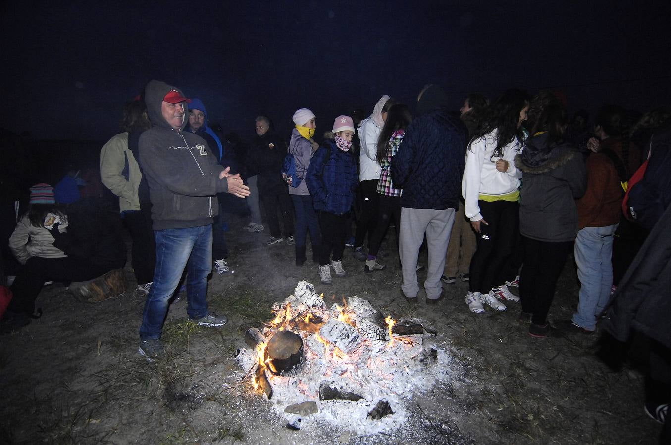
M 391 158 L 394 186 L 403 189 L 401 206 L 458 207 L 467 134 L 459 117 L 446 109 L 413 119 L 399 151 Z

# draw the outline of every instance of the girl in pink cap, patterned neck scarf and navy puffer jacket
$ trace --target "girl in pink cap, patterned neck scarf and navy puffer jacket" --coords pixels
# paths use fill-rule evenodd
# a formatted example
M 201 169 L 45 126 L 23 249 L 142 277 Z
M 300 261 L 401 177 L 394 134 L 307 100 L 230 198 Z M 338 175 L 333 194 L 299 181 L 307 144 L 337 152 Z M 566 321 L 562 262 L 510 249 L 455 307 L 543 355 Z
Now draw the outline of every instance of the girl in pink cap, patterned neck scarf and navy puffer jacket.
M 335 275 L 345 275 L 342 253 L 345 250 L 346 222 L 358 184 L 356 161 L 351 151 L 352 137 L 352 118 L 336 117 L 333 139 L 327 139 L 315 151 L 305 176 L 315 210 L 319 213 L 319 278 L 324 284 L 331 283 L 331 267 Z

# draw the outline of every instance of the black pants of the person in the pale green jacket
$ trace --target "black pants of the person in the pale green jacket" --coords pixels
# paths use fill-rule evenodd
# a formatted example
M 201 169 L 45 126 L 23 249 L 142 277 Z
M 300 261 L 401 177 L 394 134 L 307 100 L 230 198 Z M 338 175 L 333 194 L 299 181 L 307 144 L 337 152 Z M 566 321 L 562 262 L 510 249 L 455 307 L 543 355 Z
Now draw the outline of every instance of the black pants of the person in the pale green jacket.
M 156 241 L 152 219 L 145 212 L 125 212 L 123 220 L 133 240 L 131 261 L 138 284 L 150 283 L 156 266 Z

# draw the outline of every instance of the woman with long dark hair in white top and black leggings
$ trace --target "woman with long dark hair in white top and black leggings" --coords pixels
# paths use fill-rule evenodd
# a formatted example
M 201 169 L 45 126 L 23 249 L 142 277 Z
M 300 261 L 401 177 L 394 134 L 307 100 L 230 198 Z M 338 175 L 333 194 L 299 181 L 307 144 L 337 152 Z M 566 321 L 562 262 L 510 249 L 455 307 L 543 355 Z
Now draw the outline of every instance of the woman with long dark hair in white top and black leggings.
M 489 107 L 466 151 L 462 179 L 464 213 L 477 234 L 466 304 L 476 314 L 484 312 L 483 302 L 495 310 L 506 308 L 494 288 L 505 282 L 503 269 L 513 251 L 519 226 L 522 174 L 513 165 L 513 159 L 521 150 L 524 140 L 521 125 L 528 109 L 525 92 L 507 90 Z M 510 293 L 505 297 L 517 298 Z

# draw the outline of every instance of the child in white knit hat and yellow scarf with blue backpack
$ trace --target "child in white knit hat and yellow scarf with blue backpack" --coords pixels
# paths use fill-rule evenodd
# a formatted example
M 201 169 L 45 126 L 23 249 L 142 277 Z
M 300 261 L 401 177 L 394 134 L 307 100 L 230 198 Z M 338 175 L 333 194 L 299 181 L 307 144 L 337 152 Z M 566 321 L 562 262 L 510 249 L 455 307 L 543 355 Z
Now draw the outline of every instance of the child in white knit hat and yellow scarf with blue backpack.
M 317 144 L 312 137 L 315 135 L 317 124 L 315 123 L 315 113 L 307 108 L 301 108 L 294 113 L 292 117 L 296 127 L 291 131 L 289 139 L 289 149 L 287 153 L 293 155 L 296 164 L 296 175 L 301 180 L 299 184 L 289 184 L 289 194 L 294 204 L 296 214 L 296 225 L 294 230 L 296 265 L 305 263 L 305 241 L 307 241 L 307 232 L 310 232 L 312 241 L 312 259 L 315 263 L 319 261 L 319 249 L 321 249 L 321 232 L 319 231 L 319 220 L 317 212 L 313 206 L 312 196 L 305 182 L 305 174 L 310 166 L 312 153 L 317 148 Z M 281 242 L 280 238 L 279 241 Z

